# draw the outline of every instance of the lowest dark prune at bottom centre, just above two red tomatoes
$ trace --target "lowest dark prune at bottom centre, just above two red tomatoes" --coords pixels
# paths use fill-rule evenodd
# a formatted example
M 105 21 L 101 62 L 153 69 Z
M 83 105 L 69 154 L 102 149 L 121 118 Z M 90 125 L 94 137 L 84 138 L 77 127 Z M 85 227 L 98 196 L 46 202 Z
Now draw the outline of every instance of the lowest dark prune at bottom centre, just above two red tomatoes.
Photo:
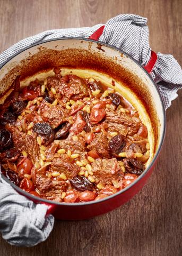
M 79 191 L 90 190 L 93 191 L 93 183 L 85 177 L 75 177 L 70 180 L 72 186 Z

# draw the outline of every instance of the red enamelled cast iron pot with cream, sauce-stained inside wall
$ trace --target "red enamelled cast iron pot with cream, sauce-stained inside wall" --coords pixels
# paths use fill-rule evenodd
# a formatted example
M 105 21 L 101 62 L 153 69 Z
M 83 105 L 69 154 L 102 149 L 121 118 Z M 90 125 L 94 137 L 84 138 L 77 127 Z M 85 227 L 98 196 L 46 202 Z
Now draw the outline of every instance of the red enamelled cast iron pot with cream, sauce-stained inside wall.
M 148 73 L 157 60 L 156 54 L 152 52 L 151 60 L 147 67 L 143 68 L 125 52 L 98 42 L 102 30 L 103 27 L 89 39 L 57 38 L 38 42 L 16 53 L 0 67 L 0 94 L 4 95 L 0 105 L 11 93 L 11 85 L 16 76 L 21 76 L 21 87 L 24 87 L 36 78 L 41 81 L 47 76 L 54 75 L 53 67 L 61 66 L 63 75 L 71 72 L 83 78 L 97 78 L 103 84 L 114 88 L 132 103 L 140 113 L 142 123 L 148 129 L 151 149 L 145 171 L 125 189 L 99 201 L 85 203 L 48 201 L 25 192 L 2 175 L 18 193 L 35 203 L 48 205 L 47 214 L 53 213 L 56 219 L 88 219 L 126 203 L 145 185 L 157 162 L 164 140 L 166 130 L 164 106 L 158 87 Z

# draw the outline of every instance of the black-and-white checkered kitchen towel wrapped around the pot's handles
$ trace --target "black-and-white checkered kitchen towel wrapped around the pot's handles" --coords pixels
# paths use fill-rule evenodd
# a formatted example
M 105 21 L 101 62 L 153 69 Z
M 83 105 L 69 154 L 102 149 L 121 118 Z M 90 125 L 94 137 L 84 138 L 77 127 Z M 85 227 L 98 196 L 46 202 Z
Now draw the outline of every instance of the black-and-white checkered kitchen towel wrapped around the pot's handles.
M 134 14 L 121 14 L 110 19 L 99 38 L 127 52 L 134 59 L 146 65 L 151 56 L 147 19 Z M 28 37 L 13 45 L 0 55 L 0 67 L 4 61 L 23 48 L 51 38 L 84 37 L 88 38 L 103 24 L 91 28 L 72 28 L 48 30 Z M 171 100 L 177 97 L 181 89 L 182 72 L 172 55 L 158 53 L 158 61 L 151 74 L 157 83 L 164 106 L 167 109 Z M 1 177 L 0 177 L 1 179 Z M 0 180 L 0 230 L 3 238 L 19 246 L 33 246 L 44 241 L 54 225 L 52 215 L 45 218 L 47 206 L 35 205 L 27 198 L 18 195 L 15 190 Z

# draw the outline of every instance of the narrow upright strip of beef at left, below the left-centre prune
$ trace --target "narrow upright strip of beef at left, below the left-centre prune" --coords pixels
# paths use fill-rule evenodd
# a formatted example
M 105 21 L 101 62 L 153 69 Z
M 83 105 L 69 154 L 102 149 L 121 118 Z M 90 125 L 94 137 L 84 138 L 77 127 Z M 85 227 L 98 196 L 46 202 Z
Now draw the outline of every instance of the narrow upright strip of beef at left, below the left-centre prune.
M 26 135 L 25 143 L 26 143 L 25 151 L 29 155 L 31 161 L 35 163 L 39 159 L 39 155 L 40 155 L 39 146 L 36 140 L 36 133 L 32 133 L 31 135 Z

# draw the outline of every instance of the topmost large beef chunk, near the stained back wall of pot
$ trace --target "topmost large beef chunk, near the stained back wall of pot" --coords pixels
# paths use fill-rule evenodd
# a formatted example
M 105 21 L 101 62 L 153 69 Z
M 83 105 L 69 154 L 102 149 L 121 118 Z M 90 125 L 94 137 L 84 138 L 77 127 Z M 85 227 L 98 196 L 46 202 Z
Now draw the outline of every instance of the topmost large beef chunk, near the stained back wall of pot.
M 88 87 L 85 81 L 75 75 L 68 75 L 68 79 L 64 77 L 48 77 L 48 87 L 55 87 L 57 93 L 62 95 L 62 100 L 67 102 L 70 99 L 78 100 L 88 96 Z

